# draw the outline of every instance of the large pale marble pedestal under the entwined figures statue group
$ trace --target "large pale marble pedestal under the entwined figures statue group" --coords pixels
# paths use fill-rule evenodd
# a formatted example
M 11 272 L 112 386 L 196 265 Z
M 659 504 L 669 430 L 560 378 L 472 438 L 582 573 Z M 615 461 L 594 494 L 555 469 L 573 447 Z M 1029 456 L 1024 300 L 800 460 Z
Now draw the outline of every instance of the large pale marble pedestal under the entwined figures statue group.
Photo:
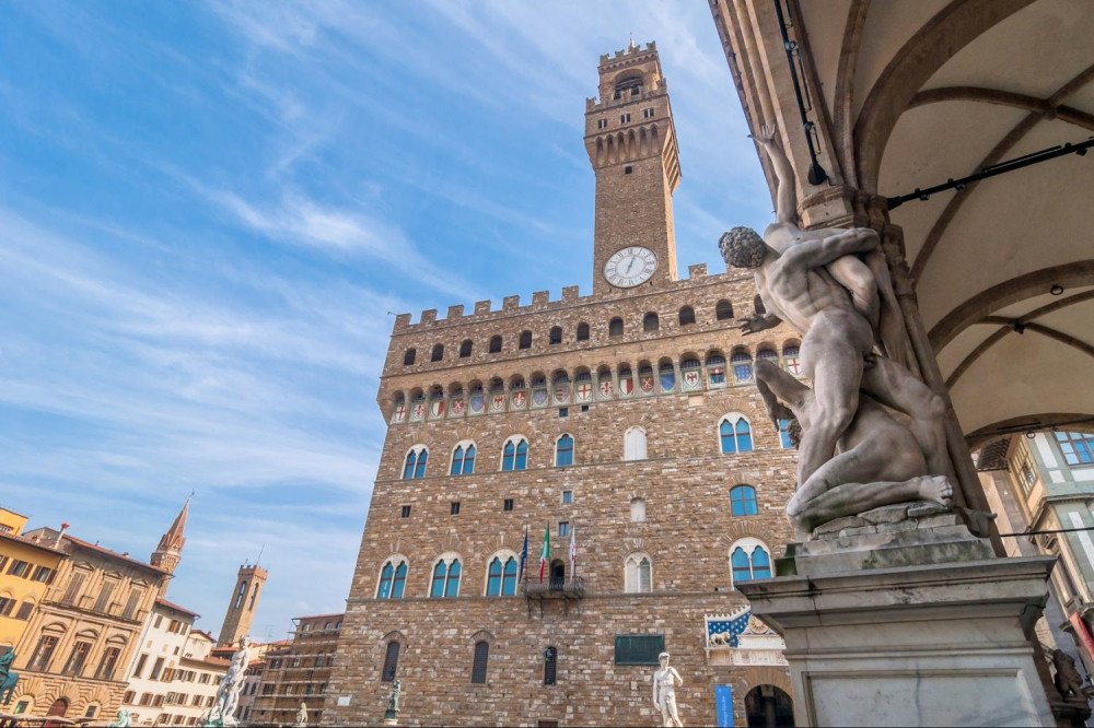
M 953 514 L 904 508 L 738 585 L 785 639 L 796 725 L 1055 726 L 1027 638 L 1055 559 L 999 559 Z

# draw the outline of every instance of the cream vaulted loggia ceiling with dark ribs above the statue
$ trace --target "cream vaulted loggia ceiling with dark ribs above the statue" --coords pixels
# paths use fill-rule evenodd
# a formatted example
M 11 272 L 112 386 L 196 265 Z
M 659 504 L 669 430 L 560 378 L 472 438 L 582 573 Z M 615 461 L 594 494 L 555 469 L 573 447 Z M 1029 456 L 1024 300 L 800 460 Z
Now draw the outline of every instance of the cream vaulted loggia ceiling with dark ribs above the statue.
M 725 22 L 770 14 L 776 0 L 721 2 L 711 8 Z M 837 185 L 896 197 L 1094 134 L 1094 2 L 791 0 L 783 8 L 801 43 L 819 161 Z M 720 31 L 730 52 L 732 31 Z M 747 111 L 745 91 L 742 98 Z M 974 442 L 1016 423 L 1094 416 L 1092 213 L 1094 154 L 891 211 L 931 345 Z

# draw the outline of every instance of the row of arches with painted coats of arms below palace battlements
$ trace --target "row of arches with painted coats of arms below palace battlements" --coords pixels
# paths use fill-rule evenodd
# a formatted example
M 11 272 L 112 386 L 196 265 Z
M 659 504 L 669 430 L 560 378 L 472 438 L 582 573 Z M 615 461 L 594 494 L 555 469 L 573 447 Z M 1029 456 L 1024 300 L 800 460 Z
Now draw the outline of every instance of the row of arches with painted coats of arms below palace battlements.
M 767 359 L 782 365 L 787 372 L 800 376 L 802 366 L 796 340 L 782 345 L 781 355 L 770 343 L 761 343 L 756 359 Z M 615 369 L 604 364 L 595 371 L 578 366 L 571 372 L 557 369 L 549 377 L 543 372 L 533 373 L 527 379 L 514 375 L 507 380 L 493 377 L 489 381 L 473 379 L 465 388 L 452 383 L 446 388 L 434 385 L 428 391 L 412 389 L 409 394 L 395 392 L 391 422 L 421 422 L 424 420 L 457 419 L 501 412 L 591 404 L 615 399 L 649 397 L 657 394 L 698 392 L 706 389 L 748 384 L 755 375 L 752 351 L 734 347 L 729 361 L 720 350 L 710 350 L 705 359 L 687 352 L 679 360 L 662 356 L 660 360 L 641 360 L 632 367 L 619 363 Z M 409 398 L 409 401 L 408 401 Z

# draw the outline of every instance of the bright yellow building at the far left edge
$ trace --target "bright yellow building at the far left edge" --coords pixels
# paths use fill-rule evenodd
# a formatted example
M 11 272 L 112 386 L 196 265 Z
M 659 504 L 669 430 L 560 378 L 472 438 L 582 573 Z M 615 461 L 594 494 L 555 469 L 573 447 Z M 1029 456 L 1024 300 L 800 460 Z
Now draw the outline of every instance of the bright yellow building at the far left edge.
M 0 653 L 14 649 L 63 552 L 23 537 L 26 516 L 0 507 Z

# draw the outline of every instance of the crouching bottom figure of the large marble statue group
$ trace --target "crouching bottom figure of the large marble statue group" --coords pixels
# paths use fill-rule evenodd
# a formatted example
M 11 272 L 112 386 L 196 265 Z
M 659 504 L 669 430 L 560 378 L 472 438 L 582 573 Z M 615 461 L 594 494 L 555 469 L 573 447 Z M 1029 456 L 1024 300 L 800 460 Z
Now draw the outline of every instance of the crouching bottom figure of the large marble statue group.
M 804 433 L 822 415 L 813 390 L 769 360 L 756 362 L 756 387 L 772 422 L 791 420 Z M 798 434 L 791 426 L 792 443 Z M 859 409 L 839 439 L 839 455 L 801 484 L 787 504 L 787 516 L 804 539 L 836 518 L 918 500 L 948 507 L 953 486 L 944 475 L 928 473 L 927 459 L 911 432 L 869 395 L 861 395 Z

